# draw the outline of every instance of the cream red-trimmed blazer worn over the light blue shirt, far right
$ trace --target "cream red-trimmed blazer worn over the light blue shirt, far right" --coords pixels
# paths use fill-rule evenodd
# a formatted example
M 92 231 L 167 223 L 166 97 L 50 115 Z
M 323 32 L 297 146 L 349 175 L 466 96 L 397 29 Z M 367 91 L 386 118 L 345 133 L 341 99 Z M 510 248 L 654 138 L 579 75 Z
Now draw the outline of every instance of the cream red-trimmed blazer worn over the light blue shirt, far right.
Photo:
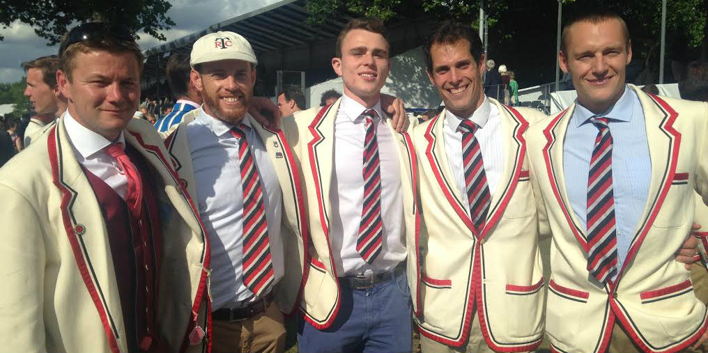
M 563 145 L 575 105 L 527 135 L 531 178 L 553 233 L 546 330 L 556 352 L 605 352 L 615 322 L 644 352 L 678 352 L 706 330 L 706 307 L 674 253 L 690 232 L 693 189 L 708 202 L 708 105 L 629 88 L 644 110 L 651 183 L 614 284 L 602 286 L 588 274 L 585 230 L 565 189 Z

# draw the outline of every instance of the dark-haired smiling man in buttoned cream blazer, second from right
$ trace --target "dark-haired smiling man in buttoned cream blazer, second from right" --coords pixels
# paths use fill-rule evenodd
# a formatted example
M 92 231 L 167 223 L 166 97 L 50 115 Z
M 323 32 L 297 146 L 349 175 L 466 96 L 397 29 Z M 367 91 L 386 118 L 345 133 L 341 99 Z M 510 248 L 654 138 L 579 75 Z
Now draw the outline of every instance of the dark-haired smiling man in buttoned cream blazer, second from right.
M 442 23 L 426 45 L 428 76 L 446 108 L 413 132 L 427 231 L 418 241 L 421 282 L 413 293 L 421 348 L 535 350 L 543 339 L 545 291 L 539 197 L 529 181 L 525 134 L 545 115 L 484 96 L 484 53 L 469 25 Z M 479 224 L 468 200 L 463 133 L 457 131 L 465 120 L 479 126 L 474 136 L 489 180 L 489 211 Z M 469 171 L 474 175 L 474 166 Z M 477 185 L 472 178 L 469 184 Z

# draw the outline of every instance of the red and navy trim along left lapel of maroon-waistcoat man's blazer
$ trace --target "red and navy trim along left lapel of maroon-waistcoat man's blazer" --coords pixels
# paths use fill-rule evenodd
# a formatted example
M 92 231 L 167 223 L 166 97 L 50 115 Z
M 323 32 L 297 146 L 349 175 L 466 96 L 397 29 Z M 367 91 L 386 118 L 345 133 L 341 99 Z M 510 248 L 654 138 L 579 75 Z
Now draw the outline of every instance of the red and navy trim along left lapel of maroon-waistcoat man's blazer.
M 103 307 L 101 299 L 98 298 L 98 293 L 96 292 L 96 286 L 93 284 L 91 279 L 91 274 L 89 274 L 89 269 L 86 267 L 86 260 L 81 252 L 79 242 L 76 241 L 76 233 L 74 233 L 74 226 L 72 225 L 72 219 L 69 216 L 69 211 L 67 207 L 69 206 L 69 201 L 72 199 L 71 192 L 62 185 L 61 180 L 59 180 L 59 159 L 57 158 L 57 126 L 51 128 L 49 137 L 47 138 L 47 152 L 49 154 L 50 166 L 52 166 L 52 182 L 54 185 L 62 192 L 62 204 L 60 209 L 62 210 L 62 221 L 64 221 L 64 230 L 67 232 L 67 237 L 69 240 L 69 245 L 72 246 L 72 252 L 74 253 L 74 260 L 76 260 L 76 266 L 79 267 L 79 273 L 81 273 L 81 279 L 84 279 L 84 284 L 86 284 L 86 289 L 89 291 L 89 296 L 93 301 L 93 305 L 96 306 L 96 311 L 98 311 L 98 316 L 101 318 L 101 324 L 103 325 L 103 330 L 105 331 L 105 336 L 108 339 L 108 347 L 110 347 L 110 352 L 120 353 L 120 348 L 118 347 L 118 341 L 113 335 L 113 329 L 110 328 L 108 323 L 108 314 L 106 313 L 106 308 Z M 121 314 L 122 315 L 122 314 Z

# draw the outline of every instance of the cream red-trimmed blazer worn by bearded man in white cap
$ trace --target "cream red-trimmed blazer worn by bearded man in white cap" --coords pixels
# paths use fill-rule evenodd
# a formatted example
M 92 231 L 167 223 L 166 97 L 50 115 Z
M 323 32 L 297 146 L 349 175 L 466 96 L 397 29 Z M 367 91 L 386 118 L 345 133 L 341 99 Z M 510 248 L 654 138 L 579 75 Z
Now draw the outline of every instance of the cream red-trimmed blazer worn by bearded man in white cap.
M 169 157 L 174 163 L 175 170 L 181 178 L 181 183 L 197 198 L 197 189 L 194 178 L 192 156 L 187 140 L 186 125 L 195 120 L 200 109 L 195 109 L 182 117 L 182 121 L 172 129 L 165 139 L 165 146 Z M 275 173 L 278 174 L 278 183 L 282 190 L 282 245 L 285 250 L 285 276 L 273 289 L 275 303 L 283 313 L 292 313 L 297 308 L 297 298 L 304 275 L 304 254 L 307 249 L 308 231 L 305 224 L 305 209 L 300 187 L 300 176 L 297 173 L 295 159 L 290 146 L 285 141 L 285 134 L 281 129 L 269 129 L 256 122 L 251 115 L 246 115 L 251 122 L 251 127 L 256 129 L 258 136 L 263 140 L 265 150 L 273 163 Z

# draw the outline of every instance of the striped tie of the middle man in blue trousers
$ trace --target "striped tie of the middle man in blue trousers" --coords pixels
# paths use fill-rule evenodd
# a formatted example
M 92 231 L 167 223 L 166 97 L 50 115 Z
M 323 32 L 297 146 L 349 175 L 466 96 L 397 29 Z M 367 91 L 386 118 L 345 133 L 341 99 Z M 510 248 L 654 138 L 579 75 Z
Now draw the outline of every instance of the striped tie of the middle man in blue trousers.
M 376 111 L 364 113 L 366 135 L 364 138 L 364 207 L 361 212 L 359 237 L 356 250 L 362 259 L 373 263 L 381 253 L 383 222 L 381 219 L 381 172 L 379 168 L 379 144 L 376 139 Z

